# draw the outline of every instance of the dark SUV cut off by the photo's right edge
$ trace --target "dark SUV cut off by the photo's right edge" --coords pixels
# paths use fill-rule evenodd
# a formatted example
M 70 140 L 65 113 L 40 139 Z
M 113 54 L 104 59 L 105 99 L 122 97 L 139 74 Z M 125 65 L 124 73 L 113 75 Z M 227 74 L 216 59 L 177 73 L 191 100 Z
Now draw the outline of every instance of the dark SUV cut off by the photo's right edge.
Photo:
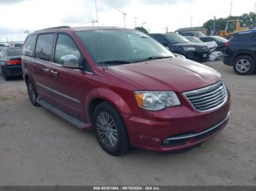
M 233 66 L 237 74 L 248 75 L 255 71 L 256 63 L 256 30 L 236 33 L 226 43 L 223 62 Z

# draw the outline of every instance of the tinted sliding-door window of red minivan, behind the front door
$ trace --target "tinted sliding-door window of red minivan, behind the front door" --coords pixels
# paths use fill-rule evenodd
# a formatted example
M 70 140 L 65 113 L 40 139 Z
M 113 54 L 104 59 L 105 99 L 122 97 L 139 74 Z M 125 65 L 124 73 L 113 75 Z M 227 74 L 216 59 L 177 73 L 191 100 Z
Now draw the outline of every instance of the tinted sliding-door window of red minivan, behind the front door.
M 42 34 L 38 36 L 36 47 L 36 58 L 50 61 L 53 51 L 54 34 Z

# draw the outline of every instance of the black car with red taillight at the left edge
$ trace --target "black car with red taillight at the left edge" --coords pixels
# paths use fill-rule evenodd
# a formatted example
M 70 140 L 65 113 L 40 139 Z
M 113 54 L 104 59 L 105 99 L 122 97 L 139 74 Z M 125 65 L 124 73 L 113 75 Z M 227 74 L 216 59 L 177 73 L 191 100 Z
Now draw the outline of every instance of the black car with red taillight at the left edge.
M 0 52 L 0 74 L 5 80 L 11 77 L 21 77 L 21 49 L 20 47 L 4 48 Z

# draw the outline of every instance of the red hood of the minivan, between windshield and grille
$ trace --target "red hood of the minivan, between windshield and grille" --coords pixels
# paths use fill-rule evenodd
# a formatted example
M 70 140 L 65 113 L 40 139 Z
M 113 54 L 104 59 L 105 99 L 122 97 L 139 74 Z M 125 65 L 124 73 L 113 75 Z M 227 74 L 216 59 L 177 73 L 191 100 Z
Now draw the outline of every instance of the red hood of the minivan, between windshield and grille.
M 173 90 L 181 93 L 221 80 L 219 72 L 214 69 L 178 57 L 108 66 L 108 71 L 131 80 L 141 90 Z

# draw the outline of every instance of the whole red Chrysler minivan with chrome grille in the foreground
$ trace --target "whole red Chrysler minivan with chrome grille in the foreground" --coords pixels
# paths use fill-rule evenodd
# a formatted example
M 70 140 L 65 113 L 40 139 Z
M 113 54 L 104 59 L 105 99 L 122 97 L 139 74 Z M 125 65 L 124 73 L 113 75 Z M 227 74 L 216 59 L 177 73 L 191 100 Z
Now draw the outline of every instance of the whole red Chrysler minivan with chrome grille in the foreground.
M 219 72 L 176 57 L 140 31 L 36 31 L 23 46 L 22 67 L 31 103 L 78 128 L 93 128 L 110 155 L 130 147 L 192 147 L 229 119 L 230 93 Z

